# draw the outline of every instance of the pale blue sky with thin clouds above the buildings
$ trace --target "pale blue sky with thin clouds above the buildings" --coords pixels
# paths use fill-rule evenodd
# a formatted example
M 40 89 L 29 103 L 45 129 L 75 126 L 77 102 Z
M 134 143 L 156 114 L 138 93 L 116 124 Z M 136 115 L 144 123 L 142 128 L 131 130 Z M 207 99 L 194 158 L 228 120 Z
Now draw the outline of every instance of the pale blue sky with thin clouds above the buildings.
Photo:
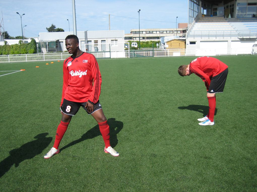
M 179 3 L 178 3 L 179 2 Z M 177 23 L 188 22 L 188 0 L 75 0 L 77 31 L 176 28 Z M 47 32 L 54 24 L 64 31 L 73 31 L 72 0 L 9 0 L 0 2 L 0 20 L 10 36 L 21 36 L 21 17 L 25 37 L 35 37 Z M 69 19 L 69 22 L 67 21 Z

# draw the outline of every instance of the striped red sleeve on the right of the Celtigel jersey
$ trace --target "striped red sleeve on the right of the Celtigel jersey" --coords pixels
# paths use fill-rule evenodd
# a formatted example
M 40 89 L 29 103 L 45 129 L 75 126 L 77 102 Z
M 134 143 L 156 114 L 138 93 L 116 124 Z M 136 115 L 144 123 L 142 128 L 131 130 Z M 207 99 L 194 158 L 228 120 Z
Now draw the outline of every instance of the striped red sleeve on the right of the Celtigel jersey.
M 94 55 L 90 58 L 91 75 L 93 77 L 93 91 L 89 97 L 89 102 L 95 104 L 99 100 L 101 92 L 102 77 L 100 74 L 99 66 Z

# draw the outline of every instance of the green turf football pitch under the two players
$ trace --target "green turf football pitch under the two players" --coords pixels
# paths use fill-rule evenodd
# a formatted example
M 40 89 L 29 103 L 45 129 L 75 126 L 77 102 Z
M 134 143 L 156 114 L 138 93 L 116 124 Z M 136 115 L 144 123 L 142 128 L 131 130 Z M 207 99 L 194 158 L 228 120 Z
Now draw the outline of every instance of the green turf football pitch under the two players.
M 98 60 L 100 102 L 120 156 L 104 153 L 96 121 L 81 108 L 50 159 L 62 61 L 0 64 L 25 69 L 0 76 L 0 191 L 257 191 L 257 57 L 217 58 L 229 73 L 213 126 L 197 122 L 208 111 L 202 80 L 177 73 L 195 57 Z

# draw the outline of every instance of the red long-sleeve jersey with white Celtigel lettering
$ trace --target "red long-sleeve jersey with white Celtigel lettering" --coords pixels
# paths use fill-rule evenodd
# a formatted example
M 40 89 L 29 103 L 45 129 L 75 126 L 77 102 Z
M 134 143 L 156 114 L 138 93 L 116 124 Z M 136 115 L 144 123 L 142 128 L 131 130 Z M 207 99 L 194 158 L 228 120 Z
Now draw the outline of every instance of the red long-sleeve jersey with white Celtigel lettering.
M 68 57 L 63 62 L 63 98 L 84 103 L 97 103 L 100 96 L 102 77 L 93 54 L 83 52 L 80 56 Z

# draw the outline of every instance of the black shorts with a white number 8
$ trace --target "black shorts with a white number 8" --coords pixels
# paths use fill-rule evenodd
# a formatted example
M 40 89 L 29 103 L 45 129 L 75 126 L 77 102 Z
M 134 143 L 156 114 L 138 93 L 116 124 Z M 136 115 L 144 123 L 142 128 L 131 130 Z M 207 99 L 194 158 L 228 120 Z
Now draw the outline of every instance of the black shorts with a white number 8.
M 76 113 L 79 111 L 79 108 L 82 107 L 88 113 L 88 110 L 85 107 L 86 103 L 87 102 L 78 103 L 78 102 L 69 101 L 67 99 L 63 99 L 63 103 L 62 103 L 62 106 L 60 107 L 60 109 L 61 109 L 62 113 L 64 113 L 64 114 L 76 115 Z M 88 113 L 88 114 L 92 114 L 99 109 L 102 109 L 102 106 L 101 106 L 101 104 L 99 103 L 99 100 L 98 100 L 98 102 L 94 105 L 94 110 L 91 113 Z

